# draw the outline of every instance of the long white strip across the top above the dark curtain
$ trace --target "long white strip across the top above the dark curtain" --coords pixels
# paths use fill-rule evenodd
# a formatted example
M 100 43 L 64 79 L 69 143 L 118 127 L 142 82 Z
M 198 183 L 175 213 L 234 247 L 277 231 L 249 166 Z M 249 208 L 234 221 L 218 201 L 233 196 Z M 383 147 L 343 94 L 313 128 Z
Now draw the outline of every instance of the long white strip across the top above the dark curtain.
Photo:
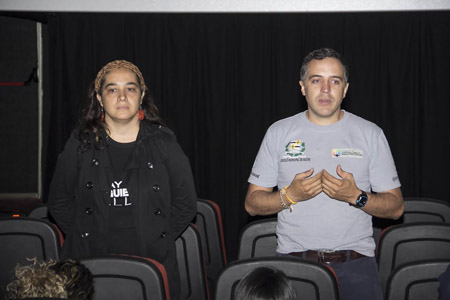
M 450 0 L 1 0 L 33 12 L 365 12 L 450 10 Z

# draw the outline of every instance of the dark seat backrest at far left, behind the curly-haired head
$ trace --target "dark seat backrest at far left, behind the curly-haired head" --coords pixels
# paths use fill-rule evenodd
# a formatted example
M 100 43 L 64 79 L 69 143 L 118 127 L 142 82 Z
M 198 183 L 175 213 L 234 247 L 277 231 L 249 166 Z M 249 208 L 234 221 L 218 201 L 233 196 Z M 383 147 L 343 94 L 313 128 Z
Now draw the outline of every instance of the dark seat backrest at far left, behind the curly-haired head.
M 0 219 L 0 299 L 14 275 L 17 264 L 31 265 L 27 260 L 59 259 L 60 239 L 53 224 L 30 218 Z

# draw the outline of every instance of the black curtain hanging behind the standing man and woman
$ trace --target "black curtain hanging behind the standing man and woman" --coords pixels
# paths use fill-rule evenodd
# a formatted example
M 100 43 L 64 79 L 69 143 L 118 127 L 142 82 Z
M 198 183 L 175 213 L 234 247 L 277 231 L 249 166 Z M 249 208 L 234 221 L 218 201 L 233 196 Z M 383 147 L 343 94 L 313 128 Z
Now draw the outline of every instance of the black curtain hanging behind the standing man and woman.
M 56 14 L 47 26 L 45 190 L 58 153 L 107 62 L 143 71 L 194 173 L 222 209 L 228 254 L 247 178 L 274 121 L 306 108 L 303 57 L 332 47 L 350 65 L 343 107 L 382 127 L 404 196 L 450 201 L 450 12 L 311 14 Z

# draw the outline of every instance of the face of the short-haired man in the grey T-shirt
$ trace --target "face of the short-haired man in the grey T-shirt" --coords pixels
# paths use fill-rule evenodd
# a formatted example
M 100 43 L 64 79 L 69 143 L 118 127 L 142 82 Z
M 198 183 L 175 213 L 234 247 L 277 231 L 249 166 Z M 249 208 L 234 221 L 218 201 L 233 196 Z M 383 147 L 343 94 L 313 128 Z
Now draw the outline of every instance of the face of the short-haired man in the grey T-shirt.
M 339 120 L 342 99 L 348 89 L 344 66 L 339 60 L 327 57 L 310 61 L 306 78 L 300 81 L 300 87 L 308 103 L 308 118 L 311 122 L 326 125 Z

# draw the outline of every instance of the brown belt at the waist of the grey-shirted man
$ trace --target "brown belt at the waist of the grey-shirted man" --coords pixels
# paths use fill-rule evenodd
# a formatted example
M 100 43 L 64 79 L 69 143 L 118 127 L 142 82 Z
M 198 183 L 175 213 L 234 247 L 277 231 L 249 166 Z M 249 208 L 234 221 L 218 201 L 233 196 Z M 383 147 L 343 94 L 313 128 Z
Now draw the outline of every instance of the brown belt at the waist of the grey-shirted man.
M 342 263 L 353 259 L 366 257 L 353 250 L 339 250 L 339 251 L 303 251 L 303 252 L 291 252 L 289 255 L 301 257 L 307 260 L 317 261 L 320 263 Z

